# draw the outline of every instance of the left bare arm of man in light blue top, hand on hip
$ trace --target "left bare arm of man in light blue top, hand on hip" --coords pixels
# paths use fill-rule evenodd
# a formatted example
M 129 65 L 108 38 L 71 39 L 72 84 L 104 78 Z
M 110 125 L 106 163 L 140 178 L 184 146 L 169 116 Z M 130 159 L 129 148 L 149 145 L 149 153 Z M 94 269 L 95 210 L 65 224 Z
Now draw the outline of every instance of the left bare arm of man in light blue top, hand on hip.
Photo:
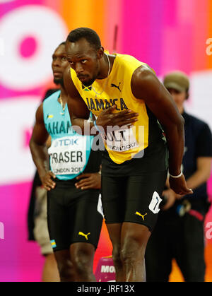
M 37 108 L 35 119 L 33 134 L 30 138 L 30 150 L 42 185 L 45 189 L 50 190 L 55 187 L 55 183 L 52 180 L 52 178 L 55 178 L 55 175 L 49 171 L 49 155 L 46 145 L 49 134 L 45 128 L 42 104 Z

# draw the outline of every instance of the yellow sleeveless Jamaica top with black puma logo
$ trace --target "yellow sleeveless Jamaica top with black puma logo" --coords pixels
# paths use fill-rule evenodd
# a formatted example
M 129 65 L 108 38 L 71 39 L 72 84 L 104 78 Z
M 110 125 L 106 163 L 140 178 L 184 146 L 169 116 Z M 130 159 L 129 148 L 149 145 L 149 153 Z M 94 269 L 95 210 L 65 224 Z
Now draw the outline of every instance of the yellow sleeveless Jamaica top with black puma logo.
M 141 65 L 146 65 L 126 54 L 116 54 L 112 71 L 105 79 L 96 79 L 89 87 L 84 86 L 71 69 L 71 78 L 86 102 L 88 109 L 98 117 L 102 110 L 117 105 L 114 113 L 131 109 L 139 113 L 138 121 L 130 129 L 109 130 L 103 135 L 110 159 L 122 164 L 140 154 L 142 150 L 163 138 L 162 129 L 155 115 L 143 100 L 131 92 L 131 77 Z

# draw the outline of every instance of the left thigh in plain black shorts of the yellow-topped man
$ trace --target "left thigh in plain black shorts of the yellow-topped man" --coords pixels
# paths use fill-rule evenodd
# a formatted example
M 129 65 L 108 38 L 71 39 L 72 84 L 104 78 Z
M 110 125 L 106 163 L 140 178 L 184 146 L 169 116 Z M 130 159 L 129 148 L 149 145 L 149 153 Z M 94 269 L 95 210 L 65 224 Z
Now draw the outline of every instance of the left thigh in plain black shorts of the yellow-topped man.
M 102 176 L 102 207 L 106 224 L 124 221 L 127 179 Z

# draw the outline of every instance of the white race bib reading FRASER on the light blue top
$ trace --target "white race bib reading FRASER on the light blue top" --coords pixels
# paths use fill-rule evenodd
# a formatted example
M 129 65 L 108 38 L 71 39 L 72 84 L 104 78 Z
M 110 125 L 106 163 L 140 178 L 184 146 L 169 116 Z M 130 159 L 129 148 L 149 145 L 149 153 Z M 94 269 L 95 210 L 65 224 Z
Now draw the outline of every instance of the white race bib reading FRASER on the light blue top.
M 86 165 L 86 136 L 66 136 L 52 141 L 48 149 L 54 174 L 78 174 Z

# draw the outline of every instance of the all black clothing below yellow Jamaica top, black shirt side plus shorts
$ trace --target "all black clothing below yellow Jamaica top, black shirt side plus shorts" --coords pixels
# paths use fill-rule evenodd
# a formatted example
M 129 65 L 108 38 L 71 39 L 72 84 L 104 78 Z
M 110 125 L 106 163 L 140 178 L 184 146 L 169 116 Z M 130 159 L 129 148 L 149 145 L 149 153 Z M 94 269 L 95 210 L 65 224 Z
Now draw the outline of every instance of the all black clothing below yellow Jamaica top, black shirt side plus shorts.
M 102 155 L 102 206 L 105 223 L 139 223 L 153 230 L 167 177 L 164 141 L 145 149 L 141 158 L 121 165 Z

